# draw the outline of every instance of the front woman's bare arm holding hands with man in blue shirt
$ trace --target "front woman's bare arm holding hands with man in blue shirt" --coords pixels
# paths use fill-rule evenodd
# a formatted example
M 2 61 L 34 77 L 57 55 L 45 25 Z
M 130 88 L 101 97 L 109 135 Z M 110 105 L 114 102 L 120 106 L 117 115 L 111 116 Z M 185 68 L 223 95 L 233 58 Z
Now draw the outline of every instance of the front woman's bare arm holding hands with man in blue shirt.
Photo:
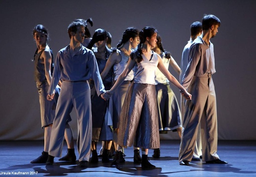
M 117 80 L 116 80 L 115 84 L 113 85 L 113 87 L 110 90 L 107 91 L 107 93 L 110 96 L 122 84 L 122 82 L 125 80 L 127 75 L 130 73 L 130 71 L 134 67 L 135 63 L 136 63 L 135 59 L 131 59 L 131 57 L 129 57 L 128 63 L 126 65 L 126 67 L 124 68 L 123 72 L 119 75 L 119 77 L 117 78 Z

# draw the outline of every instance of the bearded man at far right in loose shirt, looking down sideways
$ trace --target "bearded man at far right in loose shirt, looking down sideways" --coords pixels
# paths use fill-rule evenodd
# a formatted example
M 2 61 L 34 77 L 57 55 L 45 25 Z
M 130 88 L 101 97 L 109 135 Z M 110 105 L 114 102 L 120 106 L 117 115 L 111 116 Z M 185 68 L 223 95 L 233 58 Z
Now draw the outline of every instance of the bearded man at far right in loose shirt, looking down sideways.
M 227 164 L 217 154 L 218 128 L 216 94 L 212 74 L 215 70 L 214 46 L 210 41 L 218 33 L 220 20 L 214 15 L 202 19 L 203 33 L 189 48 L 189 63 L 182 85 L 193 94 L 185 103 L 180 165 L 189 165 L 193 157 L 197 131 L 201 123 L 202 156 L 206 163 Z

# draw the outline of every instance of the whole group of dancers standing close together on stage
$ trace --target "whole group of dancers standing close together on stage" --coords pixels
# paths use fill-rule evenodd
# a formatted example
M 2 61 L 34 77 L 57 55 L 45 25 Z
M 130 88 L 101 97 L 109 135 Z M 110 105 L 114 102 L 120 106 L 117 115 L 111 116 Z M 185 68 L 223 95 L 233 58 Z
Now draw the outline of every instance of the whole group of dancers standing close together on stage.
M 80 167 L 98 162 L 100 141 L 104 142 L 103 163 L 110 162 L 114 144 L 111 167 L 125 162 L 123 148 L 134 146 L 134 162 L 143 168 L 155 168 L 148 160 L 148 149 L 154 149 L 152 156 L 159 158 L 159 133 L 169 130 L 181 137 L 180 165 L 200 160 L 201 149 L 206 163 L 227 163 L 217 155 L 212 81 L 215 64 L 210 38 L 218 32 L 219 19 L 205 15 L 202 24 L 191 25 L 191 46 L 184 48 L 182 70 L 164 50 L 155 28 L 127 28 L 117 46 L 111 48 L 110 33 L 97 29 L 91 38 L 88 23 L 93 26 L 92 19 L 76 19 L 68 26 L 70 44 L 58 52 L 55 60 L 48 46 L 47 29 L 37 25 L 33 30 L 37 44 L 35 80 L 45 133 L 42 155 L 31 163 L 52 165 L 54 157 L 62 156 L 64 138 L 68 151 L 59 160 L 76 161 L 69 125 L 73 109 Z M 181 84 L 169 72 L 169 65 L 183 75 Z M 170 83 L 181 91 L 182 113 Z

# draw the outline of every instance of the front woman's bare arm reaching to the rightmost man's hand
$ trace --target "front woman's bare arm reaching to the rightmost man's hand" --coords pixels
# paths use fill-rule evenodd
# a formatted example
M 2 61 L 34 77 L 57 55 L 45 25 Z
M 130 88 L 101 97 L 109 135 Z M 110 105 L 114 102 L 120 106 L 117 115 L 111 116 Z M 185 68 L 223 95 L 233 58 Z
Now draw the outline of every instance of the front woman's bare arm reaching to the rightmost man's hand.
M 166 67 L 163 64 L 163 61 L 161 59 L 160 56 L 158 57 L 158 69 L 166 76 L 166 78 L 174 85 L 176 86 L 178 89 L 181 90 L 181 92 L 184 93 L 184 97 L 186 99 L 191 99 L 191 94 L 189 94 L 186 89 L 183 88 L 183 86 L 178 82 L 178 80 L 168 71 L 168 69 L 166 69 Z

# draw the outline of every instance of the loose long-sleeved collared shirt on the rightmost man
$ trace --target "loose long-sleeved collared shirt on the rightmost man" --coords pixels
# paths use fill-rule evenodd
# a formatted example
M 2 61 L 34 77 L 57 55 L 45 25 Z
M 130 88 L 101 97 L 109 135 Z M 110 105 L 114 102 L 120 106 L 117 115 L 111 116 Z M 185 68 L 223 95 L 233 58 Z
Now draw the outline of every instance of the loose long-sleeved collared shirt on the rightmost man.
M 189 48 L 189 63 L 181 84 L 187 89 L 193 76 L 205 77 L 208 73 L 214 74 L 215 72 L 213 43 L 209 42 L 208 46 L 199 36 Z

